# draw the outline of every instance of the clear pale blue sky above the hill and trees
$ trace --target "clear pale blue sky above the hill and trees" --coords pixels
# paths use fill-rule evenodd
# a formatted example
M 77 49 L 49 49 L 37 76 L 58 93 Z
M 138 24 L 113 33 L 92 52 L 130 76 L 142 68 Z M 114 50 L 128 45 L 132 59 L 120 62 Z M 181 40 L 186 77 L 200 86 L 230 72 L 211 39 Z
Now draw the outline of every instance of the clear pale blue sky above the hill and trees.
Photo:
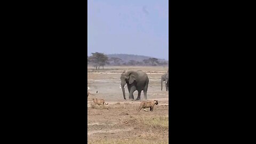
M 87 1 L 87 52 L 169 60 L 168 0 Z

